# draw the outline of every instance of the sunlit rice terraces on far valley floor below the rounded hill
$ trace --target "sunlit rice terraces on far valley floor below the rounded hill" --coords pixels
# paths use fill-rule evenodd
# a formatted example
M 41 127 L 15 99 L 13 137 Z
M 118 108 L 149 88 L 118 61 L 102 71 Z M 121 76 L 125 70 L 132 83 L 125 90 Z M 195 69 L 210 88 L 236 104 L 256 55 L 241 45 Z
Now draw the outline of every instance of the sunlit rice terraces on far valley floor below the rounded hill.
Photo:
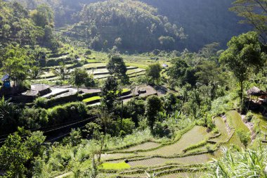
M 69 49 L 70 50 L 70 49 Z M 81 54 L 84 52 L 84 49 L 76 49 L 79 51 L 77 54 Z M 49 63 L 48 66 L 42 68 L 40 75 L 33 82 L 36 83 L 46 83 L 46 84 L 55 84 L 56 82 L 62 80 L 60 76 L 58 76 L 55 72 L 56 69 L 60 68 L 58 62 L 51 63 L 50 61 L 60 60 L 65 63 L 65 67 L 67 68 L 67 73 L 65 78 L 68 79 L 70 77 L 70 72 L 72 72 L 75 68 L 84 68 L 90 75 L 93 75 L 96 80 L 104 80 L 109 76 L 109 72 L 106 68 L 108 63 L 108 54 L 92 51 L 90 55 L 78 55 L 82 61 L 85 61 L 82 65 L 77 65 L 77 61 L 70 60 L 71 55 L 65 54 L 64 52 L 62 56 L 58 55 L 57 58 L 46 58 L 46 63 Z M 74 50 L 75 52 L 75 50 Z M 73 54 L 72 54 L 73 56 Z M 122 56 L 124 58 L 124 62 L 127 66 L 126 74 L 130 77 L 130 79 L 145 75 L 145 70 L 148 68 L 148 65 L 152 63 L 159 62 L 160 64 L 169 65 L 169 61 L 164 58 L 160 58 L 158 61 L 155 59 L 151 59 L 149 56 Z M 77 65 L 77 67 L 76 67 Z

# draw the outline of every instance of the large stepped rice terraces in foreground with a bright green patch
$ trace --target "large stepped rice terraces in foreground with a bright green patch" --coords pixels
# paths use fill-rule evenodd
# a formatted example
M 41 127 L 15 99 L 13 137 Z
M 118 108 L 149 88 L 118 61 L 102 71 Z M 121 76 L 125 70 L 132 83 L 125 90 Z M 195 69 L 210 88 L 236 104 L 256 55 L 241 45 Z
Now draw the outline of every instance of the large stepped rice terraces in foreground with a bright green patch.
M 235 142 L 243 147 L 231 117 L 242 122 L 235 111 L 229 111 L 225 119 L 214 117 L 217 132 L 207 132 L 206 127 L 194 124 L 176 132 L 172 141 L 150 140 L 106 151 L 101 156 L 98 177 L 200 177 L 207 170 L 205 163 L 219 158 L 223 146 Z

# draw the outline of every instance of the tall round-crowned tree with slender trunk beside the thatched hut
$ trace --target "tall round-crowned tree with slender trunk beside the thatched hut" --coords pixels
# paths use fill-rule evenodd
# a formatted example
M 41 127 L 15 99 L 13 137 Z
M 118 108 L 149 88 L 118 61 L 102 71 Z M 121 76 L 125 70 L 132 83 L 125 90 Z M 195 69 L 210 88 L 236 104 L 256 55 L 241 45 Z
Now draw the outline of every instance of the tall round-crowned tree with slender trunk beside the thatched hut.
M 233 72 L 240 84 L 242 102 L 244 82 L 248 80 L 252 72 L 259 72 L 259 68 L 262 68 L 266 58 L 263 58 L 263 53 L 261 53 L 261 43 L 256 32 L 248 32 L 233 37 L 227 46 L 228 49 L 221 53 L 220 60 Z

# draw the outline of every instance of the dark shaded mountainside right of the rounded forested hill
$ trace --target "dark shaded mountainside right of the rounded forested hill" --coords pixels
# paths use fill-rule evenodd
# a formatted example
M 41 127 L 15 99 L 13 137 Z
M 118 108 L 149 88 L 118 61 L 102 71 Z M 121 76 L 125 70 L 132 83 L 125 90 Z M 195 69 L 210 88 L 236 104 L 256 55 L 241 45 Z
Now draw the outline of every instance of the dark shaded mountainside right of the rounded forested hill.
M 231 37 L 247 32 L 235 13 L 228 11 L 233 0 L 141 0 L 159 9 L 171 23 L 183 27 L 188 39 L 182 45 L 197 51 L 204 44 L 219 42 L 224 48 Z

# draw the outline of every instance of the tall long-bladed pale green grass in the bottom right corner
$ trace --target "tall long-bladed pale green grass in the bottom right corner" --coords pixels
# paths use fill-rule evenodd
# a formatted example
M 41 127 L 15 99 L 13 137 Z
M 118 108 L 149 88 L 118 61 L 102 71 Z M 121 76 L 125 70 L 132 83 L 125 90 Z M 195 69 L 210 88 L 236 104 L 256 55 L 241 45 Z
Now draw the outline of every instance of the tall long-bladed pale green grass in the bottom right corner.
M 267 148 L 233 152 L 223 148 L 223 156 L 209 165 L 207 177 L 267 177 Z

